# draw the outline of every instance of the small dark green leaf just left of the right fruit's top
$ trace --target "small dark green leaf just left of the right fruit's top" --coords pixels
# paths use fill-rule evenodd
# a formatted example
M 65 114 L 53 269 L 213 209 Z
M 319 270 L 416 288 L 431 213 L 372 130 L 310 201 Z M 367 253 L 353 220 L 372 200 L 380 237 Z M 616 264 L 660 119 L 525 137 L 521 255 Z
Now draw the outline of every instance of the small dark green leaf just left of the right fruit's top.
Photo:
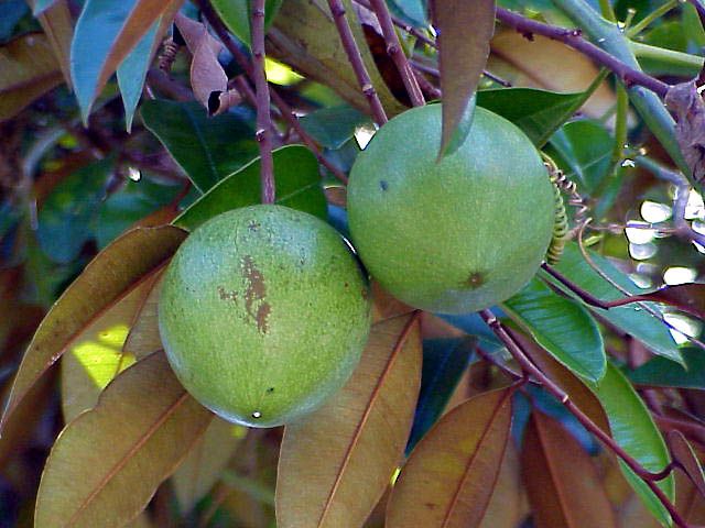
M 355 129 L 369 122 L 369 117 L 355 108 L 341 105 L 322 108 L 299 120 L 308 134 L 326 148 L 340 148 L 352 138 Z

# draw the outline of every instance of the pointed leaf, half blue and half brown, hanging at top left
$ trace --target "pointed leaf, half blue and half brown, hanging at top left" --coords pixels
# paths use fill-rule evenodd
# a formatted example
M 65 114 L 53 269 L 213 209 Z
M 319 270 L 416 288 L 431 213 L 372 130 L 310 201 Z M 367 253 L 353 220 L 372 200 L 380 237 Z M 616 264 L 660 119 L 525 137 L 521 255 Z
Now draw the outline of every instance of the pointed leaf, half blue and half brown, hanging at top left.
M 84 122 L 108 78 L 175 1 L 88 0 L 84 4 L 70 47 L 70 76 Z

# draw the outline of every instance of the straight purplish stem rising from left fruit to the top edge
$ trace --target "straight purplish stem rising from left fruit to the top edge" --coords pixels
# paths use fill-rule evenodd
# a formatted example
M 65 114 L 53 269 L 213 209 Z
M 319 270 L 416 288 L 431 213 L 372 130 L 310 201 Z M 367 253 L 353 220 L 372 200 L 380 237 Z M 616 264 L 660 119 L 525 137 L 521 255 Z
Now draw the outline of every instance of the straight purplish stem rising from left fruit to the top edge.
M 272 156 L 272 117 L 270 95 L 264 72 L 264 0 L 252 1 L 252 80 L 257 100 L 257 132 L 260 145 L 260 178 L 262 204 L 274 204 L 274 158 Z

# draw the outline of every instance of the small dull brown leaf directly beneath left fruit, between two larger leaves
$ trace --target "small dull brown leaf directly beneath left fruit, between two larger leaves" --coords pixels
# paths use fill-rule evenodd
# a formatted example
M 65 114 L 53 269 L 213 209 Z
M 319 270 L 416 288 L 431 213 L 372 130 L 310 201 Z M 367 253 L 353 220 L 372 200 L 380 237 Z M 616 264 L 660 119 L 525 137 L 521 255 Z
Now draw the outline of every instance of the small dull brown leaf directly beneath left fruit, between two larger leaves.
M 214 418 L 172 476 L 183 514 L 188 514 L 218 482 L 241 440 L 236 436 L 236 428 L 220 418 Z

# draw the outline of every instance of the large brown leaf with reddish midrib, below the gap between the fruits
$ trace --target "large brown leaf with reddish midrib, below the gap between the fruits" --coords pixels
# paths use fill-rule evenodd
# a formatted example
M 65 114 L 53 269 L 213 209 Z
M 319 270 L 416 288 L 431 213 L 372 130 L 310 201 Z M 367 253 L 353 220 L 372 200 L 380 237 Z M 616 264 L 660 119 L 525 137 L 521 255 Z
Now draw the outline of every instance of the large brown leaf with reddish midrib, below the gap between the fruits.
M 373 324 L 346 386 L 284 430 L 276 482 L 280 528 L 365 522 L 402 459 L 420 384 L 417 316 Z

